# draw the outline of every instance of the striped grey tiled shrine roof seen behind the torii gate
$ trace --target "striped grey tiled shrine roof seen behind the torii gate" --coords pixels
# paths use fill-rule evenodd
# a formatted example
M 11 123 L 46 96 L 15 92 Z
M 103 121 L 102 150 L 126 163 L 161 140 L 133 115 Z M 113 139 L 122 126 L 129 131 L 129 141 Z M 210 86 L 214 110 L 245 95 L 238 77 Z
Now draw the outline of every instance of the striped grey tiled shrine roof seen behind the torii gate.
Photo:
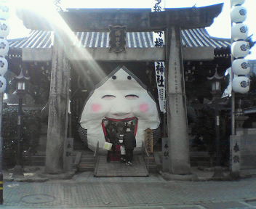
M 84 48 L 108 48 L 108 32 L 76 32 L 79 46 Z M 184 47 L 212 46 L 226 48 L 230 46 L 228 38 L 215 38 L 209 36 L 205 28 L 183 29 L 181 31 Z M 31 30 L 28 37 L 12 39 L 9 41 L 11 49 L 23 48 L 51 48 L 53 32 L 44 30 Z M 127 32 L 127 48 L 153 48 L 153 32 Z

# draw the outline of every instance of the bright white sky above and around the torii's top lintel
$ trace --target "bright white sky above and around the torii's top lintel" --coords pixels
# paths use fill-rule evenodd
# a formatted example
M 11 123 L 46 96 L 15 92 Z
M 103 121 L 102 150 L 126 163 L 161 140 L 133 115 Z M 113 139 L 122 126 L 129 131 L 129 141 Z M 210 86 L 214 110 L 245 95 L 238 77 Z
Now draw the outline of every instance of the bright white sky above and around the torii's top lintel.
M 25 4 L 35 4 L 39 0 L 9 0 L 13 7 L 23 7 Z M 44 0 L 52 1 L 52 0 Z M 223 11 L 215 18 L 215 22 L 207 28 L 210 36 L 219 38 L 231 37 L 231 20 L 230 20 L 230 0 L 162 0 L 166 8 L 177 7 L 204 7 L 212 4 L 224 3 Z M 155 0 L 61 0 L 63 8 L 151 8 L 155 4 Z M 22 3 L 22 4 L 21 4 Z M 256 41 L 256 0 L 246 0 L 243 4 L 247 8 L 247 20 L 244 22 L 249 28 L 249 35 L 252 40 Z M 43 7 L 42 9 L 45 9 Z M 45 12 L 45 11 L 44 11 Z M 12 9 L 12 15 L 9 19 L 11 32 L 7 38 L 19 38 L 28 36 L 29 30 L 23 26 L 15 16 L 15 8 Z M 256 60 L 256 46 L 251 49 L 251 54 L 247 56 L 249 60 Z

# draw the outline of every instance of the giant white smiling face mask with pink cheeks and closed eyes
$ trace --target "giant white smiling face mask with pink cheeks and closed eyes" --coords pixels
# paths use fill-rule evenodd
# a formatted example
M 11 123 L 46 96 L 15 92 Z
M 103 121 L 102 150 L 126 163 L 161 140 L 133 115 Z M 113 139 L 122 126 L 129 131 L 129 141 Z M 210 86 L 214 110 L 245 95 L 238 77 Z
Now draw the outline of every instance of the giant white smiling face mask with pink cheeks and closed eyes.
M 107 118 L 113 121 L 135 121 L 137 149 L 140 149 L 144 130 L 159 126 L 156 102 L 143 88 L 143 83 L 126 67 L 118 67 L 113 73 L 93 91 L 81 114 L 80 123 L 87 130 L 88 147 L 94 150 L 97 141 L 99 147 L 103 147 L 105 124 L 102 121 Z

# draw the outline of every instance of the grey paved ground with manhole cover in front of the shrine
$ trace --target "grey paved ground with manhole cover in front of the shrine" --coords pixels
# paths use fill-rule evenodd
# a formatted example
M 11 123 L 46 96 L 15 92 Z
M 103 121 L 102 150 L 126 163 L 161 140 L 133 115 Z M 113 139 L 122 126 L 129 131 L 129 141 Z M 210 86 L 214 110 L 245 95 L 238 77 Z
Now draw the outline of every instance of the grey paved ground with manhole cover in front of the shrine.
M 0 208 L 256 208 L 256 178 L 240 181 L 165 181 L 149 177 L 4 183 Z

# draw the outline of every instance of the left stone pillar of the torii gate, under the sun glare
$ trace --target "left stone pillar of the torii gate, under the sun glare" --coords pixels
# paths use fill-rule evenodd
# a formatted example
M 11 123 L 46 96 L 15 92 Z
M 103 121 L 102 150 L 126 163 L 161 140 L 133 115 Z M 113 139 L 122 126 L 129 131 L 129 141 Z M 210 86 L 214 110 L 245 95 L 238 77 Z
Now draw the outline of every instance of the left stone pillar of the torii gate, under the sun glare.
M 55 36 L 52 52 L 51 87 L 49 91 L 49 119 L 45 171 L 63 173 L 64 144 L 68 131 L 68 102 L 70 63 L 63 41 Z

